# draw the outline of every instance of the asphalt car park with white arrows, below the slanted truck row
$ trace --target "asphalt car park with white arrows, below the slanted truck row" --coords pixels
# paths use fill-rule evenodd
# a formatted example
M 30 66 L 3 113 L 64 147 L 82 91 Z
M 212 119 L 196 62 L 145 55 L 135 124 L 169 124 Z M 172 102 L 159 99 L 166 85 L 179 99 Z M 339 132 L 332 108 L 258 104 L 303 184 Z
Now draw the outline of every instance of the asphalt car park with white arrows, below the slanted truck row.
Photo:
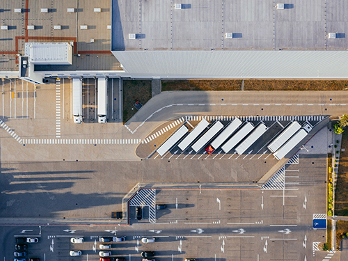
M 325 253 L 315 246 L 326 241 L 326 230 L 313 230 L 313 214 L 326 212 L 326 157 L 299 155 L 281 175 L 283 187 L 278 182 L 264 189 L 156 189 L 155 202 L 167 207 L 155 211 L 155 223 L 149 222 L 150 207 L 143 207 L 138 221 L 130 206 L 131 226 L 1 226 L 6 237 L 0 245 L 8 259 L 13 255 L 12 238 L 32 235 L 40 237 L 40 243 L 29 249 L 31 256 L 66 260 L 70 250 L 79 248 L 81 258 L 70 260 L 95 260 L 98 237 L 116 234 L 127 240 L 112 244 L 112 254 L 126 260 L 140 260 L 144 250 L 155 251 L 160 260 L 320 260 Z M 85 243 L 69 242 L 77 236 Z M 142 237 L 157 242 L 143 244 Z

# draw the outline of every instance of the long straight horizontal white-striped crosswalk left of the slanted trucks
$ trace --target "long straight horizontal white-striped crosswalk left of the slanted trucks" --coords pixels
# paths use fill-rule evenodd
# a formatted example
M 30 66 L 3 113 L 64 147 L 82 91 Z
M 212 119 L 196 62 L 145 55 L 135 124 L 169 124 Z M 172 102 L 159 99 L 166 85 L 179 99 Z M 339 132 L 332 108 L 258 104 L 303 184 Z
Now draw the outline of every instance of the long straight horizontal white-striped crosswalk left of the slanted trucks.
M 141 139 L 23 139 L 24 144 L 139 144 Z

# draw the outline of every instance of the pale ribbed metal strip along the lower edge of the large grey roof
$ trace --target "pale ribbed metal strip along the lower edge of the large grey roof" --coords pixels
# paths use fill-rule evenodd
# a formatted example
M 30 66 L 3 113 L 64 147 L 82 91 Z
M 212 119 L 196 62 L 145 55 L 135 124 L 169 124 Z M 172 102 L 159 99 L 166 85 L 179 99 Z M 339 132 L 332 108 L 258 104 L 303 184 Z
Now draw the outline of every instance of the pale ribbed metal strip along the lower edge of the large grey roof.
M 347 51 L 113 52 L 132 77 L 347 79 Z

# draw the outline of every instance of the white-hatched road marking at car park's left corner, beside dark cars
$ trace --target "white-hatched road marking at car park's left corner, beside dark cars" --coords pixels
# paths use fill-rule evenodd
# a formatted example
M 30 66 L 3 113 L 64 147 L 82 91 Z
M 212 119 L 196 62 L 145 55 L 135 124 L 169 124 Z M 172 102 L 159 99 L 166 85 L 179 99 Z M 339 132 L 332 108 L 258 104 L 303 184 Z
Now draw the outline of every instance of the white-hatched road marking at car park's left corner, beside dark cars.
M 139 189 L 128 204 L 129 207 L 149 207 L 149 222 L 156 223 L 156 189 Z

